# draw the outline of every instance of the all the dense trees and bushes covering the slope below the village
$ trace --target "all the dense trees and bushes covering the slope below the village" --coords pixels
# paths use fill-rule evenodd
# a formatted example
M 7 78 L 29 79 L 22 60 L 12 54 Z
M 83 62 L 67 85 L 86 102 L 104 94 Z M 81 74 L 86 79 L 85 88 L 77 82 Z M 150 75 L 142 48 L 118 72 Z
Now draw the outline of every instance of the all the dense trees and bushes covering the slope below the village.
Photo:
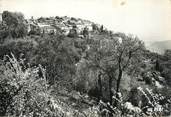
M 30 33 L 21 13 L 2 19 L 0 116 L 171 114 L 171 50 L 152 53 L 137 36 L 96 24 L 65 35 Z

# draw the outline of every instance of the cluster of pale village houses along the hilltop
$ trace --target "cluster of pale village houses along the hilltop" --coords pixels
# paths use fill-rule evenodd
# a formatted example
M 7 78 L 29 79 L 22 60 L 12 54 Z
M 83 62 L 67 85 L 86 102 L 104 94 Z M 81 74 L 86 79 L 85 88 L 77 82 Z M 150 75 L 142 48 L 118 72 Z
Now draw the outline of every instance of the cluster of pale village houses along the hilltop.
M 68 35 L 70 30 L 76 30 L 79 34 L 82 34 L 83 30 L 92 31 L 93 28 L 100 29 L 100 25 L 94 24 L 88 20 L 76 19 L 73 17 L 49 17 L 43 18 L 40 17 L 38 19 L 28 19 L 28 32 L 39 32 L 41 34 L 59 34 L 63 33 L 64 35 Z

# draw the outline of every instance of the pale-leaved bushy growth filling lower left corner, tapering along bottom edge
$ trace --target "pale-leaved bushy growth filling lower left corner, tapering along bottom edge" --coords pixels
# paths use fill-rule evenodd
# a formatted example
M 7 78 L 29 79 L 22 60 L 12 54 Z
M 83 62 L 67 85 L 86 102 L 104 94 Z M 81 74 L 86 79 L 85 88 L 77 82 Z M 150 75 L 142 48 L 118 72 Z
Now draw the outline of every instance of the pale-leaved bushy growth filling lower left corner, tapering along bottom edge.
M 78 112 L 51 95 L 45 69 L 25 67 L 13 54 L 0 64 L 0 116 L 75 117 L 97 116 L 96 110 Z M 42 72 L 42 76 L 39 75 Z M 98 117 L 98 116 L 97 116 Z

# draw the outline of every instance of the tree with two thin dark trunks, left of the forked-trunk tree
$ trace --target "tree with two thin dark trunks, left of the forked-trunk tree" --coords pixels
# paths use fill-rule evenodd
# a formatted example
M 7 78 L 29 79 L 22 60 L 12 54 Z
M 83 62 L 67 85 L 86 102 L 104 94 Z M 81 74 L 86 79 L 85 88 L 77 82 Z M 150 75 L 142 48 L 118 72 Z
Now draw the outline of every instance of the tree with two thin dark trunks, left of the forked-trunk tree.
M 116 71 L 116 62 L 114 60 L 115 48 L 117 46 L 117 40 L 110 35 L 93 35 L 93 41 L 89 44 L 90 49 L 87 50 L 86 59 L 88 61 L 89 69 L 97 72 L 97 83 L 98 90 L 100 94 L 97 96 L 99 100 L 103 98 L 102 91 L 102 79 L 108 78 L 108 87 L 109 87 L 109 101 L 112 103 L 112 83 L 115 79 Z M 105 80 L 107 81 L 107 80 Z

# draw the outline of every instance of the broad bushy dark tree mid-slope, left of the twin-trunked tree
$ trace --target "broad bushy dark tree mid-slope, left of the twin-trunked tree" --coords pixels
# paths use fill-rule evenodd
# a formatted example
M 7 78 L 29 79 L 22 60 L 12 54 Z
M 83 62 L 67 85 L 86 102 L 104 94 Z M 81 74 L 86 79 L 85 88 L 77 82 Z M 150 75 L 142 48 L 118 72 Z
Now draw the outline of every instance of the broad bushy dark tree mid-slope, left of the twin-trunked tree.
M 75 75 L 75 64 L 80 57 L 74 41 L 63 35 L 46 35 L 38 41 L 39 45 L 30 63 L 46 67 L 46 76 L 51 85 L 59 81 L 60 84 L 71 84 Z M 67 87 L 70 86 L 68 84 Z

